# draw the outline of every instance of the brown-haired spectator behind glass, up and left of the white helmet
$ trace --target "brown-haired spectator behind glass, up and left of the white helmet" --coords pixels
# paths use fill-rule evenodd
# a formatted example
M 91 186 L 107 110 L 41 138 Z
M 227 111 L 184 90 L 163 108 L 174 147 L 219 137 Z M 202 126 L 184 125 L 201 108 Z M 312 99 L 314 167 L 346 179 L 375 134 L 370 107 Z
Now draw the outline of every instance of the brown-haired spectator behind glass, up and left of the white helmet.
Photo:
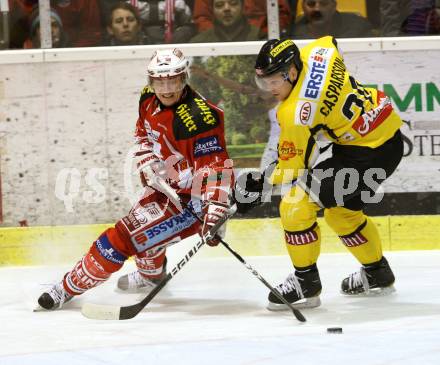
M 107 19 L 107 46 L 128 46 L 133 44 L 149 44 L 148 37 L 143 33 L 141 18 L 137 9 L 125 2 L 113 5 Z

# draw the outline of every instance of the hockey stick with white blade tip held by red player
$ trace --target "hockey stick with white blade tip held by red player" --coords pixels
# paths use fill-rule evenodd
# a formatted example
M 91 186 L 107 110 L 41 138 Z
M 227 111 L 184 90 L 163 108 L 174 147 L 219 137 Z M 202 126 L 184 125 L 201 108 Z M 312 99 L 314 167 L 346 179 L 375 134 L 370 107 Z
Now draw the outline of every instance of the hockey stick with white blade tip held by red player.
M 188 209 L 190 210 L 190 209 Z M 191 213 L 192 210 L 190 210 Z M 211 232 L 217 232 L 219 228 L 229 219 L 230 215 L 223 217 L 212 228 Z M 157 284 L 154 289 L 148 293 L 148 295 L 142 299 L 139 303 L 128 306 L 117 305 L 105 305 L 105 304 L 93 304 L 85 303 L 82 306 L 81 313 L 83 316 L 90 319 L 131 319 L 136 317 L 142 309 L 144 309 L 148 303 L 162 290 L 162 288 L 175 276 L 182 267 L 199 251 L 200 247 L 204 244 L 203 240 L 197 242 L 197 244 L 188 251 L 177 265 Z

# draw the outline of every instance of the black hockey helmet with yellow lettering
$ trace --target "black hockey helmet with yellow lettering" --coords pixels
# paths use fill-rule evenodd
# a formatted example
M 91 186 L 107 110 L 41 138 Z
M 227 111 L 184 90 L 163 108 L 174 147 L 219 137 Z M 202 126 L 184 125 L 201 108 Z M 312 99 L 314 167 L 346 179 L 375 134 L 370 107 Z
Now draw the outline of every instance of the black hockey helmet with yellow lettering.
M 295 65 L 298 73 L 302 69 L 299 49 L 291 39 L 270 39 L 260 49 L 255 62 L 255 71 L 258 76 L 269 76 L 275 72 L 288 69 Z

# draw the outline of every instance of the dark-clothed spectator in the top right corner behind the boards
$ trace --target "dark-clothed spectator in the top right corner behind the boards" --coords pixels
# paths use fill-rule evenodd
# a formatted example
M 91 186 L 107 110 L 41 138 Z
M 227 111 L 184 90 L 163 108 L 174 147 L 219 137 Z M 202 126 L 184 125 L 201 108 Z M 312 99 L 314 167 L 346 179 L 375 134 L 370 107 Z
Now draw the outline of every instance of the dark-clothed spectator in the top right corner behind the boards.
M 440 33 L 440 0 L 381 0 L 382 35 Z

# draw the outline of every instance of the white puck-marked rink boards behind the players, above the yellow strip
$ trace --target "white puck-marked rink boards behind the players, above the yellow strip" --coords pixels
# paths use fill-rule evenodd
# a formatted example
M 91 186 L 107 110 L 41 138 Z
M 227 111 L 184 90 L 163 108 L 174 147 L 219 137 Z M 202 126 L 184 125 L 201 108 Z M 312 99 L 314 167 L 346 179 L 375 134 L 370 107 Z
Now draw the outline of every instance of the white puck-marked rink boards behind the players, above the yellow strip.
M 420 40 L 421 49 L 424 45 L 435 48 L 432 42 L 437 38 L 426 38 Z M 427 83 L 440 89 L 440 49 L 408 50 L 408 42 L 414 48 L 414 39 L 396 44 L 341 40 L 340 44 L 349 70 L 363 83 L 391 84 L 401 98 L 413 83 L 421 83 L 423 90 Z M 260 43 L 251 43 L 243 52 L 258 50 Z M 359 52 L 360 44 L 370 51 Z M 186 49 L 190 55 L 238 52 L 219 45 Z M 145 84 L 144 57 L 151 51 L 151 47 L 139 46 L 2 53 L 3 225 L 16 226 L 24 219 L 32 226 L 106 223 L 126 214 L 131 206 L 128 197 L 132 196 L 132 185 L 126 181 L 132 176 L 124 174 L 124 166 L 132 145 L 139 92 Z M 412 122 L 428 121 L 437 128 L 440 106 L 437 100 L 433 103 L 434 110 L 428 112 L 426 95 L 422 95 L 422 111 L 415 111 L 413 101 L 401 114 Z M 440 154 L 440 145 L 436 144 L 440 144 L 440 127 L 405 133 L 413 143 L 413 153 L 405 157 L 385 191 L 438 190 L 440 156 L 436 154 Z M 418 145 L 421 134 L 427 135 L 422 138 L 424 155 Z M 427 152 L 429 148 L 433 155 Z M 56 194 L 57 177 L 66 169 L 74 169 L 78 186 L 67 184 L 64 189 L 62 185 Z M 72 191 L 66 205 L 60 196 Z

